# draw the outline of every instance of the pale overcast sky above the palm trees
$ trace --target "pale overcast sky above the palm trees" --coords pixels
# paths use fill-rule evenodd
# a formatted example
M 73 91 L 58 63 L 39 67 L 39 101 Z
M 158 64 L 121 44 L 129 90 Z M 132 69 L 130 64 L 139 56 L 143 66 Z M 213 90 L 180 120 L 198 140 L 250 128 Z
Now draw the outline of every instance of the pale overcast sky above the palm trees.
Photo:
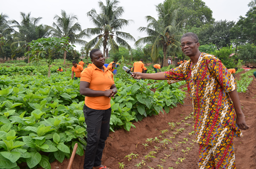
M 248 11 L 247 4 L 251 0 L 203 0 L 212 12 L 215 20 L 234 20 L 238 21 L 239 16 L 245 16 Z M 15 19 L 18 22 L 21 21 L 19 12 L 31 12 L 32 17 L 42 17 L 41 23 L 52 26 L 53 18 L 57 14 L 60 16 L 60 10 L 65 10 L 68 14 L 74 13 L 78 17 L 78 22 L 82 26 L 82 29 L 93 28 L 94 26 L 89 21 L 86 13 L 92 8 L 95 8 L 97 12 L 98 1 L 97 0 L 83 0 L 83 1 L 68 1 L 68 0 L 1 0 L 0 13 L 7 14 L 9 19 Z M 105 2 L 102 0 L 102 2 Z M 139 33 L 137 29 L 139 27 L 146 27 L 147 23 L 145 16 L 151 15 L 157 18 L 157 12 L 155 5 L 162 3 L 163 0 L 119 0 L 120 6 L 124 8 L 124 14 L 121 18 L 132 19 L 134 23 L 131 23 L 129 27 L 125 27 L 122 31 L 130 33 L 136 40 L 138 37 L 144 37 L 145 34 Z M 87 41 L 90 39 L 86 39 Z M 129 44 L 133 47 L 134 42 L 129 41 Z M 80 50 L 80 46 L 77 46 L 77 50 Z

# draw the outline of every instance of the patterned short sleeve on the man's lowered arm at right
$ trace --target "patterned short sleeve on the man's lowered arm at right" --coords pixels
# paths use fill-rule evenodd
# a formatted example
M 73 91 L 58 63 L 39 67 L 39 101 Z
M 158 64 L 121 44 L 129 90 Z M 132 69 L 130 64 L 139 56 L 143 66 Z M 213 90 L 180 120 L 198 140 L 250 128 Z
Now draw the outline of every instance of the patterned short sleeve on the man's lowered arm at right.
M 215 77 L 220 83 L 225 92 L 230 92 L 237 89 L 237 83 L 234 77 L 229 73 L 228 69 L 216 57 L 208 57 L 206 63 L 210 74 Z

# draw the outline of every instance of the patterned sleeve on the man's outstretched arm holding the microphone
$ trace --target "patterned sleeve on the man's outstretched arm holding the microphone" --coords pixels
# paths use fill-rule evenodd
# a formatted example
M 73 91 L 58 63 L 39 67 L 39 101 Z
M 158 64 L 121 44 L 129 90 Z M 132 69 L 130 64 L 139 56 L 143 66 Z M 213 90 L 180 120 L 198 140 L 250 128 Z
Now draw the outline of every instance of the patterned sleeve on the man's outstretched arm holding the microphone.
M 184 64 L 181 64 L 179 67 L 172 68 L 169 71 L 164 72 L 165 79 L 169 84 L 185 80 L 183 66 Z

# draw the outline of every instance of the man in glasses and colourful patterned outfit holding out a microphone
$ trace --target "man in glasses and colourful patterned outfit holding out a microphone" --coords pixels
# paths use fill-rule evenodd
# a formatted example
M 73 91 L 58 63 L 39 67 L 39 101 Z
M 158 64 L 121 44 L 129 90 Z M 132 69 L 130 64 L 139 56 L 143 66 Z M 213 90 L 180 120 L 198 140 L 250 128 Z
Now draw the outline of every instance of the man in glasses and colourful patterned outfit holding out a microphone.
M 236 81 L 218 58 L 201 53 L 199 45 L 196 34 L 186 33 L 181 38 L 181 47 L 189 61 L 163 73 L 133 73 L 133 77 L 166 79 L 169 84 L 185 80 L 194 106 L 199 168 L 236 168 L 233 137 L 242 136 L 240 129 L 249 129 Z

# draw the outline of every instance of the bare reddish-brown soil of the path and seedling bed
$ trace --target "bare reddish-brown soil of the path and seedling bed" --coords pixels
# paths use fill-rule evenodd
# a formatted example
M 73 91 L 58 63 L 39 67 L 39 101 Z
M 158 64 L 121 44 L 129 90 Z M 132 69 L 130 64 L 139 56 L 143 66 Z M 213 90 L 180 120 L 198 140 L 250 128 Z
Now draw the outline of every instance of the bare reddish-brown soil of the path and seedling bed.
M 236 75 L 236 78 L 239 78 L 240 74 Z M 187 92 L 187 91 L 186 91 Z M 195 140 L 195 135 L 191 134 L 194 131 L 193 118 L 188 118 L 185 120 L 186 116 L 189 116 L 193 112 L 191 102 L 189 100 L 188 93 L 186 93 L 186 98 L 184 100 L 184 105 L 178 105 L 174 109 L 171 109 L 168 113 L 160 113 L 157 116 L 146 117 L 142 119 L 141 122 L 134 123 L 136 129 L 132 128 L 130 132 L 127 132 L 123 129 L 117 130 L 116 132 L 110 133 L 110 137 L 106 140 L 105 149 L 103 151 L 102 164 L 108 166 L 111 169 L 118 169 L 119 164 L 123 163 L 124 168 L 138 168 L 136 164 L 141 165 L 141 168 L 161 168 L 169 169 L 171 167 L 176 168 L 176 161 L 178 168 L 198 168 L 198 145 L 197 143 L 193 144 Z M 236 164 L 237 168 L 256 168 L 256 79 L 253 77 L 253 82 L 248 87 L 248 90 L 245 93 L 239 93 L 241 105 L 243 112 L 246 116 L 246 123 L 250 126 L 249 130 L 243 131 L 242 138 L 234 138 L 234 147 L 236 155 Z M 184 120 L 185 122 L 182 122 Z M 175 125 L 175 129 L 171 130 L 168 123 L 181 122 L 180 125 Z M 177 129 L 185 129 L 183 132 L 179 132 L 174 137 L 174 132 L 177 132 Z M 163 130 L 168 130 L 168 132 L 162 134 Z M 190 134 L 188 134 L 190 133 Z M 162 138 L 160 138 L 160 135 Z M 163 139 L 166 140 L 168 144 L 163 142 L 152 141 L 152 144 L 149 141 L 146 141 L 148 138 L 157 137 L 160 141 Z M 185 139 L 188 140 L 185 140 Z M 168 141 L 169 139 L 170 141 Z M 181 143 L 183 142 L 183 143 Z M 147 144 L 148 146 L 144 146 Z M 179 144 L 177 151 L 176 145 Z M 159 147 L 158 151 L 155 147 Z M 171 150 L 173 149 L 172 155 L 170 155 Z M 190 149 L 190 151 L 187 151 Z M 185 154 L 182 150 L 186 151 Z M 157 152 L 157 153 L 152 153 Z M 125 156 L 134 153 L 137 154 L 137 158 L 132 156 L 132 159 L 128 161 Z M 145 159 L 146 155 L 152 154 L 156 158 L 150 158 L 150 160 Z M 170 156 L 169 156 L 170 155 Z M 73 169 L 82 169 L 83 168 L 83 156 L 75 156 Z M 183 162 L 178 160 L 178 158 L 185 158 Z M 142 160 L 145 161 L 142 162 Z M 51 163 L 51 168 L 67 168 L 69 159 L 65 159 L 62 163 L 55 160 Z M 149 166 L 149 167 L 148 167 Z

